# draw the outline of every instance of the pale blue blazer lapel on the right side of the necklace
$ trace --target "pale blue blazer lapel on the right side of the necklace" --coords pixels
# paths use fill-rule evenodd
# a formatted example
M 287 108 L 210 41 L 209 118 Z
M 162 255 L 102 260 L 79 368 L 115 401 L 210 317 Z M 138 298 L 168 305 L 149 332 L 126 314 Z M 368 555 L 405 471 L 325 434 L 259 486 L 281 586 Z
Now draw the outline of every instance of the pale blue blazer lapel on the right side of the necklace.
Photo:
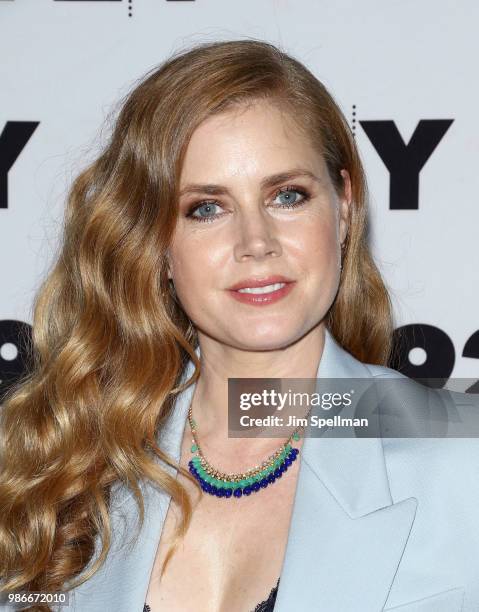
M 371 377 L 326 331 L 318 382 Z M 393 503 L 380 438 L 305 437 L 275 612 L 379 612 L 417 499 Z

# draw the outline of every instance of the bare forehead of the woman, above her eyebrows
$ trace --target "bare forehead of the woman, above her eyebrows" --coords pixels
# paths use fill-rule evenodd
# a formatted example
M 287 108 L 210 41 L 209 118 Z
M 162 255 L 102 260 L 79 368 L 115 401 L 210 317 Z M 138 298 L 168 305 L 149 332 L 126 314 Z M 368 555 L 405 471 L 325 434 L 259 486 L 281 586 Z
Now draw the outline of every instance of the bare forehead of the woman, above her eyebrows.
M 314 146 L 291 114 L 267 101 L 255 101 L 207 118 L 193 132 L 180 183 L 206 178 L 255 176 L 289 167 L 324 171 Z

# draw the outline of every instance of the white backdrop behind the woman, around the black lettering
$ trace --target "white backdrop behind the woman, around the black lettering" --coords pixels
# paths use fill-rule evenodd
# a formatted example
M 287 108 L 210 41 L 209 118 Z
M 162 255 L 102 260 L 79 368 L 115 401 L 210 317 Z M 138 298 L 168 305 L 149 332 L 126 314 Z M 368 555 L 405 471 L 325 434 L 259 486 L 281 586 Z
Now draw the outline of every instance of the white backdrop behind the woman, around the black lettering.
M 0 0 L 0 380 L 114 104 L 173 51 L 248 37 L 305 63 L 354 130 L 396 326 L 427 338 L 409 373 L 477 379 L 477 23 L 475 0 Z

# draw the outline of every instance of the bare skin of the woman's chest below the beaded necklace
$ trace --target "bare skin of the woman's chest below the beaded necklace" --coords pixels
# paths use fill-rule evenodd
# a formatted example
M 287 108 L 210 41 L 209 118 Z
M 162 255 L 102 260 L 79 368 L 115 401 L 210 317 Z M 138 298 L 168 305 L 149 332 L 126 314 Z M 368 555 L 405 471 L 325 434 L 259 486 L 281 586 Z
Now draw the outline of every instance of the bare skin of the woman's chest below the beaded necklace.
M 245 612 L 267 599 L 281 574 L 298 470 L 296 461 L 272 486 L 240 499 L 199 494 L 179 475 L 194 509 L 160 576 L 180 516 L 170 503 L 146 599 L 152 612 Z

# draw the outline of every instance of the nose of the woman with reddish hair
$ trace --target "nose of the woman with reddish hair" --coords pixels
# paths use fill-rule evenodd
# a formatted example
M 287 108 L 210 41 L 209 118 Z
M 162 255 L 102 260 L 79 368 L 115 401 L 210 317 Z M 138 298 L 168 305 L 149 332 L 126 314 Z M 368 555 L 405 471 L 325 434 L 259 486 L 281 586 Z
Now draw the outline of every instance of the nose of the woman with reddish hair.
M 261 209 L 248 211 L 238 221 L 237 240 L 234 246 L 236 261 L 241 262 L 253 257 L 279 257 L 282 249 L 276 235 L 273 219 Z

